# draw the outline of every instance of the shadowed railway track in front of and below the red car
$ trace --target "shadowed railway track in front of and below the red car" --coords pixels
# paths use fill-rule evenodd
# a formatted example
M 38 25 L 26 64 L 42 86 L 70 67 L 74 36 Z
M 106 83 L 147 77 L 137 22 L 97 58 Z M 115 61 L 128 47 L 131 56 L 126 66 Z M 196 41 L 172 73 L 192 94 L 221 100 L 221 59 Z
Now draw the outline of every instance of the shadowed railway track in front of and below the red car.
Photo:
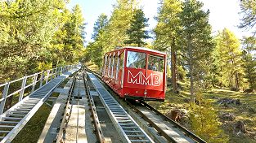
M 206 142 L 200 137 L 197 137 L 193 132 L 188 131 L 180 124 L 177 124 L 172 119 L 169 119 L 167 116 L 155 110 L 155 108 L 146 102 L 127 101 L 127 103 L 134 111 L 137 112 L 137 114 L 141 115 L 141 117 L 145 119 L 150 126 L 155 128 L 159 134 L 165 137 L 169 142 Z

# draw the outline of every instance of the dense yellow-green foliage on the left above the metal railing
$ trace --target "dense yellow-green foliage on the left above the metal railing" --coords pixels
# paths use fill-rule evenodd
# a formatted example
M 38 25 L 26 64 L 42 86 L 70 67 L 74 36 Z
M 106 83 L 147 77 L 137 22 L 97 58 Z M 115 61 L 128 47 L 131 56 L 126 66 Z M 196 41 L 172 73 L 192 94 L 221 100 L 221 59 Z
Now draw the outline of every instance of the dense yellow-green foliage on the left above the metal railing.
M 65 5 L 65 0 L 0 2 L 1 83 L 38 72 L 42 63 L 52 67 L 78 61 L 82 13 L 78 7 L 70 13 Z

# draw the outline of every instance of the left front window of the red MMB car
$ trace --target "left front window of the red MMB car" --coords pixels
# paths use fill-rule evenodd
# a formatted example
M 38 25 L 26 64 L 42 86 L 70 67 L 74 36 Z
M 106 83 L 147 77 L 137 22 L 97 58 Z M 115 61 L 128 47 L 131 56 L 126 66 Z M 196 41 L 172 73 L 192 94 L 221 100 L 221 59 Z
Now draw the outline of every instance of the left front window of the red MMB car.
M 128 51 L 127 67 L 132 68 L 145 68 L 146 67 L 146 54 L 134 51 Z

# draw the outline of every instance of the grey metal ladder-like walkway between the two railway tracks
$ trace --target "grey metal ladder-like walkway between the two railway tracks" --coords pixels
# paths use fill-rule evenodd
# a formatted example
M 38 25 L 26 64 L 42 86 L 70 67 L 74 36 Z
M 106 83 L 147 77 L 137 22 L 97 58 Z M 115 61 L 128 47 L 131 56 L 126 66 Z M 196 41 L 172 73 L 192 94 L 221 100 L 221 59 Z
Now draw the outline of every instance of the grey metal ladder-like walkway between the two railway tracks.
M 103 106 L 105 106 L 110 119 L 112 120 L 115 128 L 117 129 L 119 136 L 123 142 L 154 142 L 144 132 L 138 124 L 132 119 L 124 108 L 116 102 L 110 93 L 101 85 L 100 81 L 97 80 L 96 76 L 92 73 L 87 72 L 89 79 L 92 81 L 92 85 L 99 93 L 99 97 Z

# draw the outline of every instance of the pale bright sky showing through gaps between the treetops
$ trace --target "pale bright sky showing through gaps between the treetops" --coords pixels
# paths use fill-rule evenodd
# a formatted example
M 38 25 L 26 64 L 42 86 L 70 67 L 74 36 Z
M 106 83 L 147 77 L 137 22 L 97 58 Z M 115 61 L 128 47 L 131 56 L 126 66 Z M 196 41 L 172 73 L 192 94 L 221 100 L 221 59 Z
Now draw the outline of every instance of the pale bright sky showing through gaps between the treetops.
M 159 0 L 140 0 L 141 7 L 147 18 L 150 18 L 150 26 L 147 28 L 151 30 L 155 28 L 156 21 L 154 16 L 157 15 L 157 8 L 159 6 Z M 90 41 L 92 35 L 93 24 L 97 20 L 97 17 L 101 13 L 105 13 L 109 16 L 113 11 L 113 5 L 116 0 L 71 0 L 68 7 L 71 9 L 75 4 L 79 4 L 83 11 L 83 17 L 87 23 L 86 41 Z M 213 32 L 218 32 L 223 28 L 228 28 L 232 32 L 235 32 L 236 36 L 241 38 L 245 35 L 249 36 L 249 32 L 244 32 L 243 30 L 237 28 L 240 24 L 240 6 L 239 0 L 200 0 L 204 2 L 204 10 L 209 9 L 209 24 L 213 27 Z

